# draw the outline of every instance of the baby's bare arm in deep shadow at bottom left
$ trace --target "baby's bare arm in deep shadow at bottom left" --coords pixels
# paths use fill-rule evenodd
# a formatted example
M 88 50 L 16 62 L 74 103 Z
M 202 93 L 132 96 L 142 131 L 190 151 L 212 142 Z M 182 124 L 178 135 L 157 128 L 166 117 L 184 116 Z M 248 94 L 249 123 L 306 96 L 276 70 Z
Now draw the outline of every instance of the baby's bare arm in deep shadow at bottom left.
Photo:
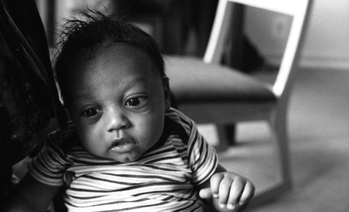
M 46 211 L 59 189 L 40 183 L 27 174 L 10 193 L 5 211 Z

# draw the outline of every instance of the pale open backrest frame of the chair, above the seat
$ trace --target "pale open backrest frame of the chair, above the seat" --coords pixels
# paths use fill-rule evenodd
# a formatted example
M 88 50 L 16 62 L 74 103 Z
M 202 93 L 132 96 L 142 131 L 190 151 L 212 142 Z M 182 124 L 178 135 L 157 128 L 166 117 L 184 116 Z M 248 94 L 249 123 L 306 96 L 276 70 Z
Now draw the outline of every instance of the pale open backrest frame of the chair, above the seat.
M 302 40 L 304 40 L 304 29 L 309 17 L 312 0 L 220 0 L 216 10 L 214 25 L 204 56 L 206 63 L 220 63 L 225 42 L 230 31 L 231 3 L 242 3 L 278 13 L 292 16 L 290 33 L 281 60 L 280 70 L 272 90 L 276 96 L 283 95 L 289 85 L 292 70 L 295 68 L 299 57 Z

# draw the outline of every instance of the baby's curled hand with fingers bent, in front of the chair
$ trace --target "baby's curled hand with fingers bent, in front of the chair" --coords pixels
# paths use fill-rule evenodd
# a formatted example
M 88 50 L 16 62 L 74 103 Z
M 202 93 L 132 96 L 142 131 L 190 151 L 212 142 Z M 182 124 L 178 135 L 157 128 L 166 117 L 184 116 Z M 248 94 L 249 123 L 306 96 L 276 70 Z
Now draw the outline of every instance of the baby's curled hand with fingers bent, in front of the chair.
M 220 209 L 234 209 L 244 207 L 255 193 L 254 185 L 233 172 L 220 172 L 211 176 L 211 188 L 200 190 L 202 199 L 213 197 L 218 199 Z

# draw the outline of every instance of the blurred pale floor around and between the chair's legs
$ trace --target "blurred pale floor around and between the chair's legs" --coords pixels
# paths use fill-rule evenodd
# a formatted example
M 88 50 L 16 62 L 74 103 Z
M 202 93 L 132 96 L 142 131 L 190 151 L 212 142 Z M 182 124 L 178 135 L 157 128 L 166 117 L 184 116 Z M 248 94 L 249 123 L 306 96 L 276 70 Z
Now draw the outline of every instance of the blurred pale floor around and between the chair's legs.
M 349 70 L 305 69 L 296 78 L 289 114 L 293 188 L 246 211 L 349 211 Z M 243 123 L 237 145 L 221 151 L 220 160 L 260 192 L 279 181 L 274 144 L 265 123 Z

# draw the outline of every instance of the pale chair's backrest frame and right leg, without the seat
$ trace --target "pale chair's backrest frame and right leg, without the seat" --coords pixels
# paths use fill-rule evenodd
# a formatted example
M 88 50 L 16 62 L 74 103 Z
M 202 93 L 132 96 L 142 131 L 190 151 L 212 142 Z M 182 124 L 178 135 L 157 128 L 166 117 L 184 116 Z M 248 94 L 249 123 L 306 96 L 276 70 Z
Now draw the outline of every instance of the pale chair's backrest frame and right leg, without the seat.
M 218 64 L 222 59 L 224 44 L 226 43 L 230 29 L 228 26 L 231 15 L 229 3 L 242 3 L 246 6 L 285 13 L 293 17 L 279 73 L 272 85 L 272 92 L 274 92 L 278 100 L 274 111 L 271 114 L 266 114 L 267 116 L 265 117 L 269 121 L 270 126 L 272 126 L 279 144 L 282 182 L 280 185 L 276 185 L 274 188 L 255 197 L 253 203 L 258 204 L 259 202 L 264 202 L 266 199 L 276 197 L 280 192 L 288 190 L 292 184 L 290 151 L 286 129 L 287 105 L 290 95 L 290 79 L 293 77 L 294 69 L 299 59 L 311 0 L 220 0 L 204 56 L 205 63 Z

